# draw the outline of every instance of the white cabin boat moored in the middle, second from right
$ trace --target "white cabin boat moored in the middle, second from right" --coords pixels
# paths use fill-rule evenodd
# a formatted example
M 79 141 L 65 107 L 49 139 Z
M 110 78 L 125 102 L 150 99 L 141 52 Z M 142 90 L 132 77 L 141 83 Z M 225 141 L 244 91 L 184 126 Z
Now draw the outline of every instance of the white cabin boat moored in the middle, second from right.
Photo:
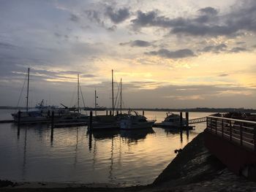
M 143 115 L 138 115 L 138 112 L 135 112 L 135 115 L 128 112 L 128 115 L 125 115 L 120 120 L 120 128 L 121 129 L 138 129 L 138 128 L 152 128 L 153 124 L 156 120 L 147 120 L 147 118 Z

